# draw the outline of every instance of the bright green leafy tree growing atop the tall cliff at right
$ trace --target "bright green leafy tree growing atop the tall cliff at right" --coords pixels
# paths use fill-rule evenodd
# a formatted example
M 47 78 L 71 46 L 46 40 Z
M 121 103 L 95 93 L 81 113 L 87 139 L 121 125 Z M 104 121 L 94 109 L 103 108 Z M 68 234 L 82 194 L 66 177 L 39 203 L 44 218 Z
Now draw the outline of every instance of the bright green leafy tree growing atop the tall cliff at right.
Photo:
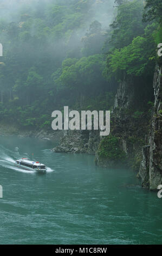
M 108 55 L 109 74 L 115 73 L 118 77 L 121 74 L 121 79 L 123 74 L 121 71 L 132 76 L 141 76 L 147 72 L 149 74 L 154 66 L 154 61 L 152 60 L 152 54 L 154 54 L 152 50 L 154 48 L 153 39 L 148 47 L 147 38 L 137 36 L 130 45 L 115 49 L 113 53 Z M 149 65 L 151 65 L 151 68 L 148 68 Z

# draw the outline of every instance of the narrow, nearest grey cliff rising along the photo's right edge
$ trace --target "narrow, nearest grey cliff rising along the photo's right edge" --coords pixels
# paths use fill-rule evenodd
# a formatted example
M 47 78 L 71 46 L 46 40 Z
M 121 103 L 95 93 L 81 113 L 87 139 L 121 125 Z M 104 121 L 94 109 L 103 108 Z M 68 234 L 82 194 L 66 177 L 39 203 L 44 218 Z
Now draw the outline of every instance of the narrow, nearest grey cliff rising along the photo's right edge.
M 154 108 L 151 120 L 151 131 L 147 144 L 142 148 L 143 160 L 139 175 L 142 186 L 150 190 L 157 189 L 162 184 L 162 66 L 157 65 L 154 73 Z

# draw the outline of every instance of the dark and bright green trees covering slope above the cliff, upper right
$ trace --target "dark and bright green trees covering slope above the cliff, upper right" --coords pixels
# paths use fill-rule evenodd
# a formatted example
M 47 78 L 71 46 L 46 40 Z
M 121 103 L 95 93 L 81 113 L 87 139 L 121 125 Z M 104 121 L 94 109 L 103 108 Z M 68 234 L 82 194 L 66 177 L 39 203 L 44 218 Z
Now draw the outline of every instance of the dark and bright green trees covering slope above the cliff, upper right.
M 150 4 L 147 3 L 145 8 L 150 7 Z M 112 47 L 107 54 L 105 74 L 108 77 L 115 75 L 122 80 L 125 74 L 150 76 L 150 71 L 154 70 L 161 29 L 157 21 L 142 22 L 143 12 L 144 3 L 140 0 L 125 0 L 119 5 L 118 14 L 112 24 L 112 38 L 109 40 Z M 146 15 L 149 14 L 145 13 Z

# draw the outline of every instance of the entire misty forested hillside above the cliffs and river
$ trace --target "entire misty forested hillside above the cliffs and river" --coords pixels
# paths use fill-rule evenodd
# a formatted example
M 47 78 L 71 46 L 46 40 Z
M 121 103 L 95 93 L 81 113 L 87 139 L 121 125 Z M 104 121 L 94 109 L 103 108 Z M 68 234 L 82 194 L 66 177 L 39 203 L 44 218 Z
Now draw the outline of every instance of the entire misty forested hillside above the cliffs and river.
M 0 121 L 50 129 L 51 112 L 63 106 L 110 109 L 125 75 L 151 88 L 157 3 L 2 0 Z

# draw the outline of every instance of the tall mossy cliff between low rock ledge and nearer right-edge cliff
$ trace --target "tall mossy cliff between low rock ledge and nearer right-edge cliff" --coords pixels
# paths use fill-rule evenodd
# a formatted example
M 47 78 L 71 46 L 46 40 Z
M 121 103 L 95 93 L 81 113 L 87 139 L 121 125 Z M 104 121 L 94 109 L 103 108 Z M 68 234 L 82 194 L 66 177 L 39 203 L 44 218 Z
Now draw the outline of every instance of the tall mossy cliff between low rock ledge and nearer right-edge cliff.
M 139 87 L 140 83 L 130 77 L 119 84 L 111 113 L 112 138 L 102 138 L 96 152 L 96 164 L 105 167 L 124 164 L 139 170 L 141 147 L 144 145 L 148 126 L 147 114 L 136 112 Z

